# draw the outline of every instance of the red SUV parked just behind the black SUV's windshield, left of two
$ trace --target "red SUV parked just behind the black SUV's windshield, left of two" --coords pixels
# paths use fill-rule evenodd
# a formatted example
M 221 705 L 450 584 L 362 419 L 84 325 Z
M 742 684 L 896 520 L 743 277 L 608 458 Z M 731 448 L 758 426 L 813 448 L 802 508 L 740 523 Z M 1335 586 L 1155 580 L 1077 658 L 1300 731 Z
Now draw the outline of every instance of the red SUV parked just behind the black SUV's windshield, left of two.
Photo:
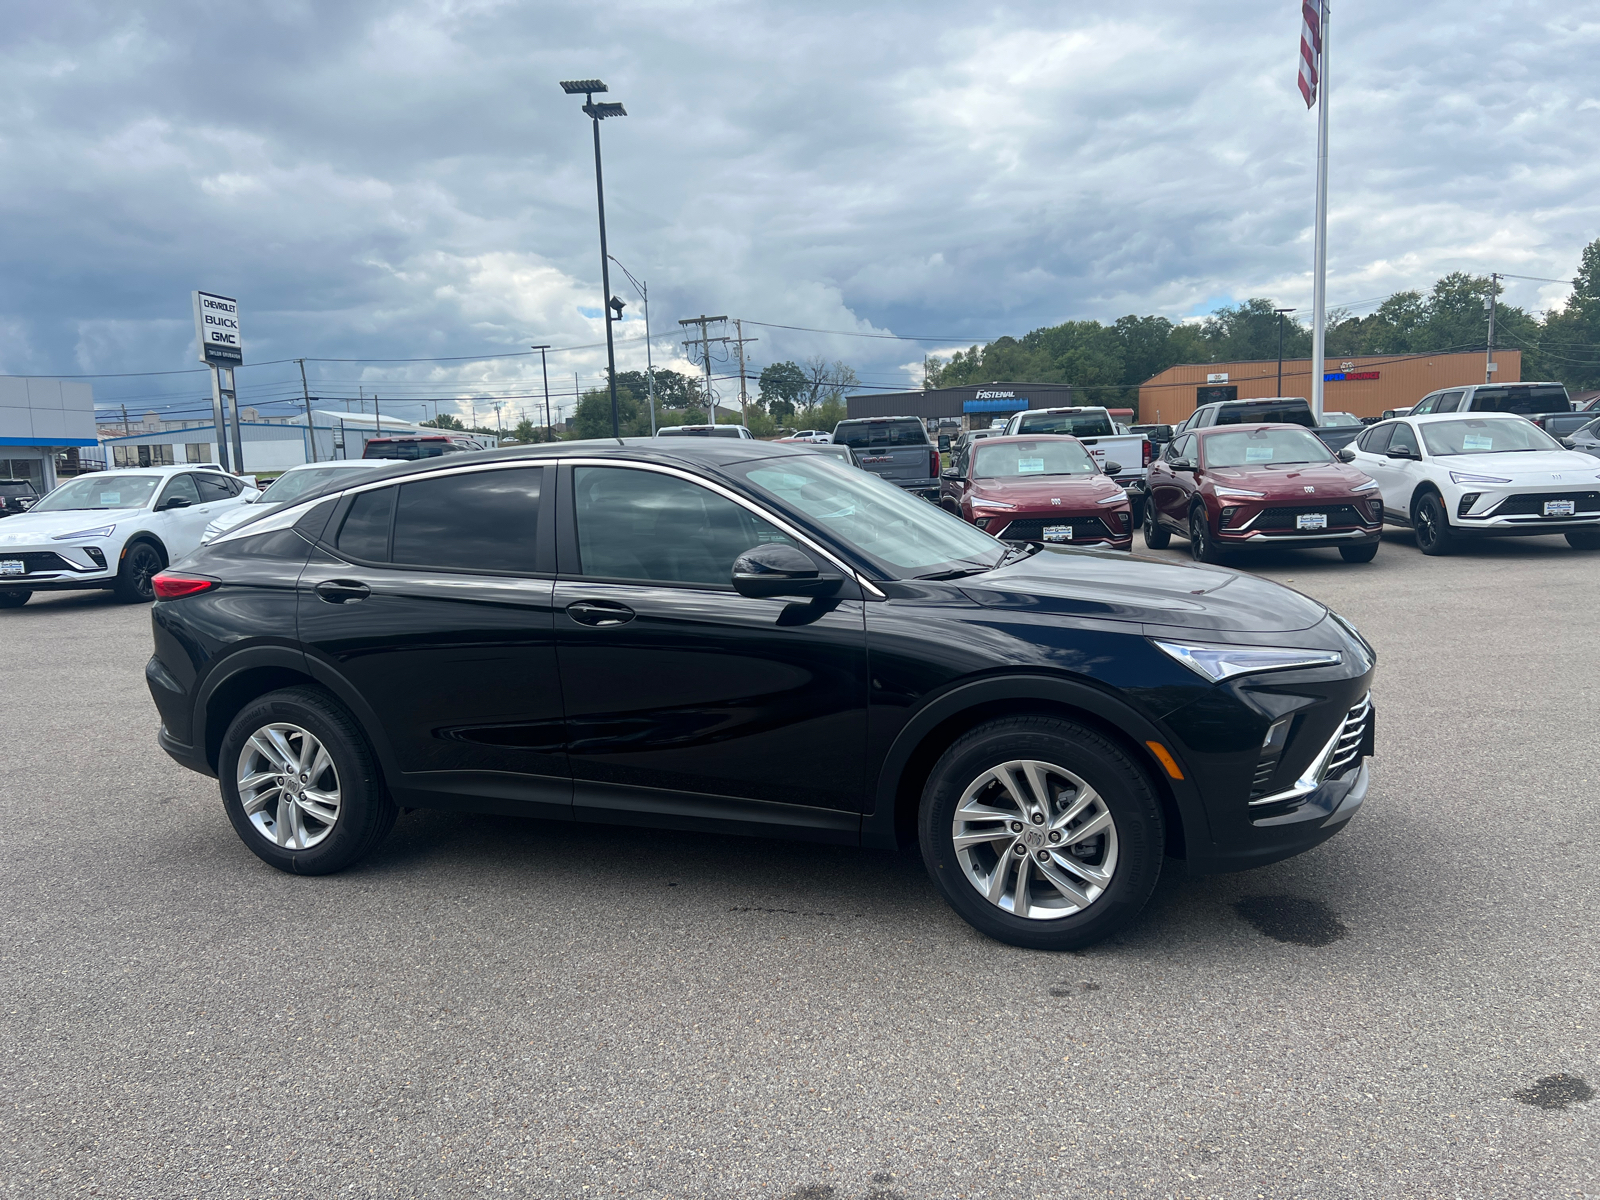
M 1128 493 L 1075 437 L 973 442 L 939 477 L 939 502 L 1011 542 L 1133 549 Z

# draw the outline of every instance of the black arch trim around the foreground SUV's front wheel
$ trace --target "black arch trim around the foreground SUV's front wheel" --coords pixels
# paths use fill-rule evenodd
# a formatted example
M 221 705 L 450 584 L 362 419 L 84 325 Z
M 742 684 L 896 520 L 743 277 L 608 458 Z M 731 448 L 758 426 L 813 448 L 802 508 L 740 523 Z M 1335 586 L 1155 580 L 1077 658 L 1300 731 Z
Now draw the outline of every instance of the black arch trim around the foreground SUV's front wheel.
M 1205 805 L 1190 782 L 1192 774 L 1179 754 L 1176 738 L 1162 730 L 1149 717 L 1139 714 L 1126 701 L 1093 683 L 1034 674 L 990 675 L 970 683 L 957 683 L 917 709 L 899 734 L 896 734 L 894 742 L 883 757 L 883 765 L 878 768 L 877 784 L 872 790 L 872 808 L 862 814 L 861 821 L 861 843 L 878 848 L 898 846 L 894 808 L 901 774 L 904 774 L 917 747 L 934 728 L 952 717 L 981 709 L 986 704 L 1014 702 L 1019 699 L 1037 699 L 1080 709 L 1096 717 L 1099 723 L 1120 733 L 1138 749 L 1138 762 L 1149 770 L 1150 776 L 1157 781 L 1157 787 L 1165 786 L 1171 795 L 1178 808 L 1179 822 L 1182 824 L 1184 843 L 1190 848 L 1190 853 L 1211 843 L 1211 826 L 1205 814 Z M 1184 773 L 1182 779 L 1173 779 L 1166 773 L 1149 747 L 1146 747 L 1147 741 L 1162 742 L 1171 750 L 1179 770 Z

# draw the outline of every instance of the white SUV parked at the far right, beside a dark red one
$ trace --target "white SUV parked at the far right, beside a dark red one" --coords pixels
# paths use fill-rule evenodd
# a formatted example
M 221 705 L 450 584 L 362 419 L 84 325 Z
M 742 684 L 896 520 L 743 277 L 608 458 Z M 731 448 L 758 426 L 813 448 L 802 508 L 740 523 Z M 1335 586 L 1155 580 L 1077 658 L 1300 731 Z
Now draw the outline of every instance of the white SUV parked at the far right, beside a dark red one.
M 1464 538 L 1566 534 L 1600 550 L 1600 462 L 1514 413 L 1435 413 L 1370 426 L 1339 451 L 1374 480 L 1384 522 L 1422 554 Z

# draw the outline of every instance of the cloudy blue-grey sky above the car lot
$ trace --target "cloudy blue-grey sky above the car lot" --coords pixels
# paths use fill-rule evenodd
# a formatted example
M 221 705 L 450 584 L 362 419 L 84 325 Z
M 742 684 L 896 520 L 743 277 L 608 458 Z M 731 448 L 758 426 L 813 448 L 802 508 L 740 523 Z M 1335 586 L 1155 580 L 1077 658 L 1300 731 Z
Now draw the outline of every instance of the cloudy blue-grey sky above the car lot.
M 603 341 L 574 77 L 627 106 L 606 213 L 658 365 L 688 368 L 677 322 L 701 312 L 765 323 L 754 370 L 822 354 L 902 386 L 925 352 L 1067 318 L 1310 302 L 1298 0 L 3 11 L 0 373 L 123 376 L 94 381 L 104 405 L 208 394 L 131 374 L 195 365 L 192 288 L 242 301 L 246 402 L 298 395 L 272 360 L 306 357 L 315 394 L 397 416 L 528 405 L 531 342 Z M 1330 301 L 1570 277 L 1600 235 L 1597 59 L 1600 3 L 1339 0 Z M 637 293 L 611 285 L 619 368 L 643 366 Z M 435 362 L 378 362 L 402 358 Z M 603 363 L 563 349 L 552 389 Z

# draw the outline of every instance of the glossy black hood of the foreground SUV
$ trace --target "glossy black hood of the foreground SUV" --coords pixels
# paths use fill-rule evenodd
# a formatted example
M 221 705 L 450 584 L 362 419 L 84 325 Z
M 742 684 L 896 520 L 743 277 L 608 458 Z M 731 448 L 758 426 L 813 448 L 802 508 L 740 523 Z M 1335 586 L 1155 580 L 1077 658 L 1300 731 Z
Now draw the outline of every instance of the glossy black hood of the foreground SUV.
M 1291 587 L 1226 566 L 1053 546 L 966 579 L 962 590 L 984 608 L 1136 621 L 1200 635 L 1288 634 L 1328 614 Z

